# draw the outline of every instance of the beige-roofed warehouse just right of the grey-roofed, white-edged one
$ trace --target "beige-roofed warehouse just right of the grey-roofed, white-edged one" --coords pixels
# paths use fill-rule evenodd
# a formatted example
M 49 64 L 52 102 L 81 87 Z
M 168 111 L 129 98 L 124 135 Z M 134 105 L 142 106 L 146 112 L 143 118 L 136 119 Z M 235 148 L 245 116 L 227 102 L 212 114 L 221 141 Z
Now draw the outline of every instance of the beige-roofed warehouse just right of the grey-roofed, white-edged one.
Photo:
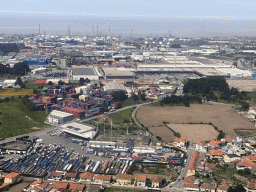
M 135 79 L 134 73 L 127 69 L 105 67 L 103 71 L 107 79 Z

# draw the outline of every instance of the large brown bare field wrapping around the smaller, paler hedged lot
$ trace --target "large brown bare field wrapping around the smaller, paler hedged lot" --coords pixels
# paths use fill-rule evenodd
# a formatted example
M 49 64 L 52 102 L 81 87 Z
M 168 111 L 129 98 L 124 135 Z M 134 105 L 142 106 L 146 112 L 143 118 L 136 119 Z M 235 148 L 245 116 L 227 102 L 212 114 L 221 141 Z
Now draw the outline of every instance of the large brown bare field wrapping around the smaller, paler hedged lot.
M 155 132 L 157 131 L 158 134 L 164 132 L 165 135 L 167 131 L 166 129 L 162 130 L 163 126 L 161 126 L 164 121 L 171 124 L 211 122 L 230 138 L 236 137 L 234 129 L 255 129 L 251 122 L 234 112 L 231 107 L 218 104 L 191 104 L 190 107 L 142 106 L 137 112 L 137 118 L 145 127 L 150 130 L 152 127 L 156 127 Z M 159 126 L 161 129 L 157 130 Z M 209 136 L 209 133 L 205 135 L 207 139 Z

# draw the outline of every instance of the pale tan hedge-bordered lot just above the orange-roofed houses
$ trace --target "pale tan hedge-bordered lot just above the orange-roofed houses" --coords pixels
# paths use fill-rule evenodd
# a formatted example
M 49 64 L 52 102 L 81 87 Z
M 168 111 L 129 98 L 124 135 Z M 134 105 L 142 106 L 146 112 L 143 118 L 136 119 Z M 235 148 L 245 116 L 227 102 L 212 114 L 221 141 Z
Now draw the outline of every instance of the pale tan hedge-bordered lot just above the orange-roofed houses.
M 206 124 L 168 124 L 168 127 L 175 132 L 179 132 L 192 142 L 216 139 L 219 134 L 212 125 Z

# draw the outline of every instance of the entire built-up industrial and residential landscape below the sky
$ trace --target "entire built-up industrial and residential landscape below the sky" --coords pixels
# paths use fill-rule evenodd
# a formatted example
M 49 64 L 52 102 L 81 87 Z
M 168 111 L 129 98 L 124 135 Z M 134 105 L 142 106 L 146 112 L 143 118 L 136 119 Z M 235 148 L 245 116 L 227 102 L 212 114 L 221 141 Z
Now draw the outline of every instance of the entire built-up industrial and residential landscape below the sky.
M 1 35 L 0 190 L 256 191 L 255 42 Z

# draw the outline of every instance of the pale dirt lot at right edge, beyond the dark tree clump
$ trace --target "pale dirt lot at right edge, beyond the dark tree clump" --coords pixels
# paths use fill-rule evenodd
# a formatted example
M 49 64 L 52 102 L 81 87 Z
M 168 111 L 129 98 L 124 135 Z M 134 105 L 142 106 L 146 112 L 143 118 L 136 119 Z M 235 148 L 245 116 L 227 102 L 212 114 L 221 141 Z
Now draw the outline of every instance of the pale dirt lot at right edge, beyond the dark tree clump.
M 227 83 L 230 87 L 237 88 L 239 91 L 251 92 L 253 88 L 256 88 L 256 80 L 228 79 Z

